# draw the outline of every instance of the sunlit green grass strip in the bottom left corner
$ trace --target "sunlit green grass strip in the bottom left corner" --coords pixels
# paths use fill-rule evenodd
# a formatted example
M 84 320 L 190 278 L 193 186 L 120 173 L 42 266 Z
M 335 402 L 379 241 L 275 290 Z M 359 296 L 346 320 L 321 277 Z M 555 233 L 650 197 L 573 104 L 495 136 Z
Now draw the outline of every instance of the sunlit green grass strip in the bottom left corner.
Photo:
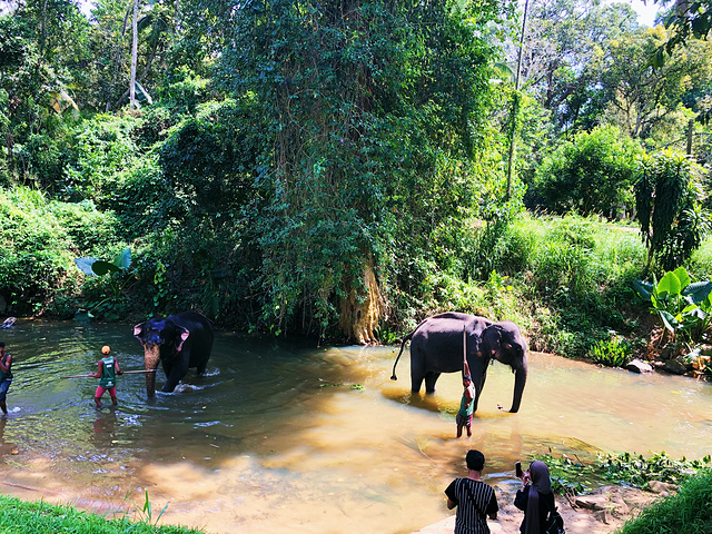
M 0 495 L 0 533 L 47 534 L 71 532 L 72 534 L 199 534 L 204 531 L 170 525 L 154 525 L 146 521 L 127 517 L 107 520 L 99 515 L 80 512 L 68 505 L 52 505 L 42 501 L 23 502 L 17 497 Z

